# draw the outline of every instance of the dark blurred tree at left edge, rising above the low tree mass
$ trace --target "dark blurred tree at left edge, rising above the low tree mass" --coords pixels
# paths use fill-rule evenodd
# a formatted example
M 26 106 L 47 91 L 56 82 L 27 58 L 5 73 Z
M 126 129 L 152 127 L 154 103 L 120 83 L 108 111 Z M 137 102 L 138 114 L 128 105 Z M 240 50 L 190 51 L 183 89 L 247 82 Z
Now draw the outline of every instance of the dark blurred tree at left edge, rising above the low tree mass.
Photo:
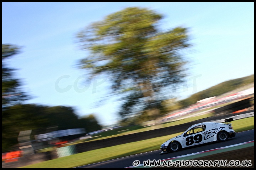
M 7 66 L 7 60 L 20 52 L 20 47 L 2 44 L 2 111 L 28 99 L 20 88 L 20 80 L 14 78 L 15 69 Z

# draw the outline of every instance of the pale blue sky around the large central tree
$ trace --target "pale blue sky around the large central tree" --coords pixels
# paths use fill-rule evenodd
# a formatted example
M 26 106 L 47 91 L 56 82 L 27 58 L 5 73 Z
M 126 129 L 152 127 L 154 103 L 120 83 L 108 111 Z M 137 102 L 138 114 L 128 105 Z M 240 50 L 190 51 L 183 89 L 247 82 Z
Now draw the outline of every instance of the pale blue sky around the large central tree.
M 120 103 L 114 98 L 95 108 L 109 94 L 110 80 L 89 82 L 76 67 L 88 52 L 78 49 L 75 35 L 126 7 L 160 13 L 162 29 L 189 28 L 190 75 L 176 97 L 254 74 L 254 2 L 2 2 L 2 44 L 22 46 L 8 62 L 33 96 L 26 103 L 71 106 L 81 117 L 94 114 L 102 125 L 116 123 Z

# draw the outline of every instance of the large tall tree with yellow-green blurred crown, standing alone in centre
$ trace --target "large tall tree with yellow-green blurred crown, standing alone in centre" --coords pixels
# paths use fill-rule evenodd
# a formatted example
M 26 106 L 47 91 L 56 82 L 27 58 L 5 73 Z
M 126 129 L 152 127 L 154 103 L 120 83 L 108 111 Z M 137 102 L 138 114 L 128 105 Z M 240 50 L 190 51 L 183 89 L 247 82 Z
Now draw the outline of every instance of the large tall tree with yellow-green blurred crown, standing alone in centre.
M 185 77 L 187 28 L 162 31 L 162 18 L 146 8 L 128 7 L 77 35 L 81 48 L 91 52 L 81 60 L 81 68 L 91 76 L 111 77 L 113 92 L 125 96 L 119 112 L 123 119 L 138 110 L 158 109 L 163 94 L 171 93 L 163 90 Z

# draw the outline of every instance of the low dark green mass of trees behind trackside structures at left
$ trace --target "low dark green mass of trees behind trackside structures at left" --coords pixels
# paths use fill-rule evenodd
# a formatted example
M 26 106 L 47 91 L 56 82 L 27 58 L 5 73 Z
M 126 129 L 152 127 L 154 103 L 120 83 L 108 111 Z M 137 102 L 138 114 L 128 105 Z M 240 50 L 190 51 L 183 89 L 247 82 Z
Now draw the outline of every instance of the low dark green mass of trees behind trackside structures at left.
M 2 117 L 2 152 L 9 151 L 18 144 L 20 131 L 32 130 L 34 135 L 47 133 L 47 128 L 57 127 L 55 130 L 85 128 L 87 132 L 100 130 L 93 115 L 79 119 L 74 109 L 67 106 L 40 106 L 36 104 L 18 104 L 11 106 Z

